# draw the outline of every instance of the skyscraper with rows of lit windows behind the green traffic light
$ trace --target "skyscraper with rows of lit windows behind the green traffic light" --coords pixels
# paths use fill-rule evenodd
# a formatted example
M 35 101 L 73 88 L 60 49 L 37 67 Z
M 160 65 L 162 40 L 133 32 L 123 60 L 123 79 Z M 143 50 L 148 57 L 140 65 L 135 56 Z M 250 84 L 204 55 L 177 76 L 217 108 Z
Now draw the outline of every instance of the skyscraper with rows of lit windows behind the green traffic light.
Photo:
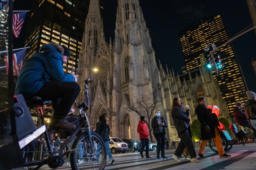
M 207 44 L 214 43 L 219 47 L 229 39 L 220 14 L 202 18 L 200 21 L 191 24 L 179 33 L 179 37 L 186 69 L 190 71 L 201 66 L 200 59 L 205 62 L 204 56 L 209 54 L 209 52 L 204 51 Z M 210 47 L 210 50 L 212 50 L 212 47 Z M 235 103 L 237 101 L 244 103 L 247 100 L 245 91 L 248 88 L 230 43 L 222 46 L 214 55 L 220 55 L 223 69 L 219 70 L 219 74 L 213 73 L 213 77 L 220 87 L 229 114 L 233 115 Z

